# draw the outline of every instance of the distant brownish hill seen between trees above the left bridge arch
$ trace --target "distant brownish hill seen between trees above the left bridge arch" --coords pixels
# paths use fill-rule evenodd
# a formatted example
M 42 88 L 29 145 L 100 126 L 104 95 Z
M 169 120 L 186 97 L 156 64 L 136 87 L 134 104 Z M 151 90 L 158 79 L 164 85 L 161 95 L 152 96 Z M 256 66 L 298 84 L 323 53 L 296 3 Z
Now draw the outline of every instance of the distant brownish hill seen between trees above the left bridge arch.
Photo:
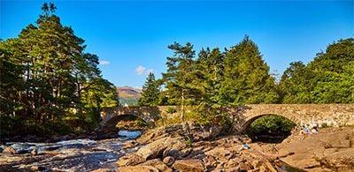
M 137 105 L 140 97 L 142 97 L 142 89 L 132 86 L 117 86 L 117 92 L 119 93 L 119 101 L 122 105 L 126 103 L 130 106 Z

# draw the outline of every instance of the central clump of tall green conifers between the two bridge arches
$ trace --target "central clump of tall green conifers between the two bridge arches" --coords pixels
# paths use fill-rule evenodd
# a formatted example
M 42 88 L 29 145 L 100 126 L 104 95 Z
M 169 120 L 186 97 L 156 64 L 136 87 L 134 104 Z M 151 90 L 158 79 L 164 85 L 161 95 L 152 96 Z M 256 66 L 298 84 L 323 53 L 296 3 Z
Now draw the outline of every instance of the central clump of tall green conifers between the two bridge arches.
M 168 104 L 181 106 L 182 120 L 227 128 L 233 122 L 222 112 L 223 106 L 280 100 L 269 67 L 248 36 L 226 52 L 202 49 L 196 60 L 190 43 L 169 48 L 174 56 L 167 57 L 161 95 Z M 186 105 L 194 108 L 185 115 Z

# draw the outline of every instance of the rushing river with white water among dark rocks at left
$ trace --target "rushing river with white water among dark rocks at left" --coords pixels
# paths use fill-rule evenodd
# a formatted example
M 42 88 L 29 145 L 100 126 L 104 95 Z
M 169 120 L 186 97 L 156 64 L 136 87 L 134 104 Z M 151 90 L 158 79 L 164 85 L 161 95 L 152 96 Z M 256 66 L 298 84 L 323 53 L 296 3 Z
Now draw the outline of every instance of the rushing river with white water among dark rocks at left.
M 89 171 L 97 168 L 114 168 L 113 163 L 119 157 L 135 152 L 139 148 L 124 146 L 128 140 L 135 139 L 141 134 L 142 131 L 119 131 L 119 138 L 103 140 L 84 138 L 56 143 L 8 142 L 1 148 L 12 146 L 20 154 L 0 153 L 0 170 L 11 168 L 17 171 L 37 167 L 60 171 Z M 36 155 L 31 155 L 31 152 L 35 152 Z

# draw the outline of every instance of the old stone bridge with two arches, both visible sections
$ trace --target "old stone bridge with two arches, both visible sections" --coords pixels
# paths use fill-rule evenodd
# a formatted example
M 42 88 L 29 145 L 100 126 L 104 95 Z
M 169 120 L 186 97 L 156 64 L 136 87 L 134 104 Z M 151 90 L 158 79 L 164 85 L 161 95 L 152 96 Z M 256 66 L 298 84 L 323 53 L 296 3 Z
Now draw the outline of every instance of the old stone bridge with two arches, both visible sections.
M 167 113 L 168 108 L 177 112 Z M 284 116 L 297 124 L 326 123 L 331 126 L 354 125 L 354 104 L 250 104 L 224 108 L 234 122 L 235 131 L 242 132 L 250 123 L 261 116 Z M 188 110 L 186 110 L 188 113 Z M 153 123 L 158 117 L 173 118 L 179 116 L 180 108 L 174 106 L 157 107 L 118 107 L 105 110 L 101 114 L 101 127 L 107 123 L 118 123 L 119 116 L 132 115 Z

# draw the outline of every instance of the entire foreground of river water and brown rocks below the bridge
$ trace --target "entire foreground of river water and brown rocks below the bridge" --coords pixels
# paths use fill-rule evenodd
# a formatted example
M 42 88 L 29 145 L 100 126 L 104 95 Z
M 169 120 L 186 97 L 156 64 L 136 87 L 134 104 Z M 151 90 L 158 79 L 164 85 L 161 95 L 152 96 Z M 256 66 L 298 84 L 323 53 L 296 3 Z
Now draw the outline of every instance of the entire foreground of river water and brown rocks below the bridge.
M 281 144 L 251 143 L 219 128 L 173 124 L 140 138 L 7 143 L 0 171 L 350 171 L 354 128 L 295 133 Z

